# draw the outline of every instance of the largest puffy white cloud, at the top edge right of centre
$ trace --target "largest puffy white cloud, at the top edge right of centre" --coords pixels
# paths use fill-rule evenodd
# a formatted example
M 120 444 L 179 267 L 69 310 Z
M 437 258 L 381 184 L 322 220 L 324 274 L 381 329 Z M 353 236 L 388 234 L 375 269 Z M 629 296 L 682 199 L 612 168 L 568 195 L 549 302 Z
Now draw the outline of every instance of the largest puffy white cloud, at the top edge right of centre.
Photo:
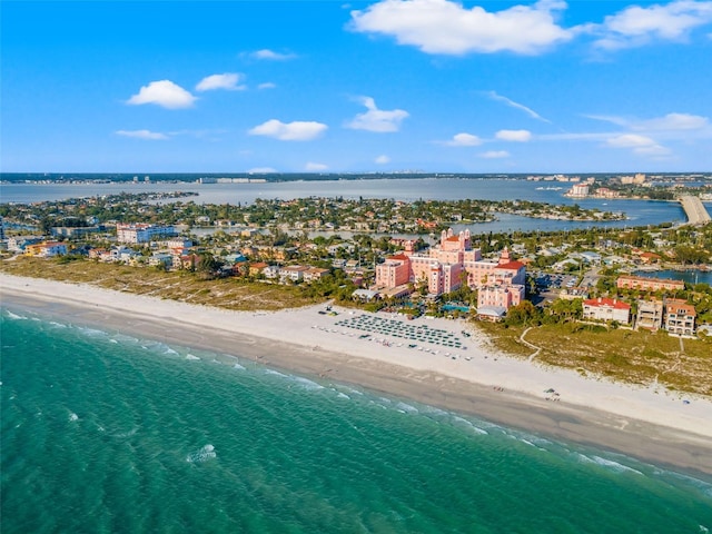
M 448 0 L 382 0 L 352 11 L 350 28 L 383 33 L 426 53 L 455 55 L 512 51 L 535 55 L 572 39 L 575 29 L 556 24 L 563 1 L 542 0 L 488 12 Z

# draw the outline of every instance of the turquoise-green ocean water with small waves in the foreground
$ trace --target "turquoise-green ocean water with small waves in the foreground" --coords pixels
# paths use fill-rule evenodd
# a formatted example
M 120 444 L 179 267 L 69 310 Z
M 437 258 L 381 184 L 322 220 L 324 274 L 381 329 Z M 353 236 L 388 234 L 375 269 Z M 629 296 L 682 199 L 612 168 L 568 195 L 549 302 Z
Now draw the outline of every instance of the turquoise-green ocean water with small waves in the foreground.
M 704 533 L 712 479 L 2 309 L 2 533 Z

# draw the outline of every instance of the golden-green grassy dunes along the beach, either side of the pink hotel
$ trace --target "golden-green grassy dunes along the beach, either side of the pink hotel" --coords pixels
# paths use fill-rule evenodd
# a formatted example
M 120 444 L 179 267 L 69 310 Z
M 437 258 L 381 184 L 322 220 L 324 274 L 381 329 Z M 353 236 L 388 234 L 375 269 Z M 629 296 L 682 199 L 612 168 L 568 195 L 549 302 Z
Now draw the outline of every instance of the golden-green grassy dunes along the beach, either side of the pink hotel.
M 294 286 L 235 278 L 206 280 L 192 273 L 161 273 L 86 260 L 20 257 L 0 261 L 0 270 L 236 310 L 276 310 L 317 301 Z M 521 342 L 524 328 L 487 323 L 476 326 L 504 353 L 527 358 L 535 350 Z M 606 376 L 641 385 L 657 382 L 670 389 L 712 396 L 712 339 L 681 340 L 665 332 L 607 330 L 572 323 L 532 328 L 524 339 L 541 347 L 536 355 L 540 363 L 573 368 L 590 377 Z

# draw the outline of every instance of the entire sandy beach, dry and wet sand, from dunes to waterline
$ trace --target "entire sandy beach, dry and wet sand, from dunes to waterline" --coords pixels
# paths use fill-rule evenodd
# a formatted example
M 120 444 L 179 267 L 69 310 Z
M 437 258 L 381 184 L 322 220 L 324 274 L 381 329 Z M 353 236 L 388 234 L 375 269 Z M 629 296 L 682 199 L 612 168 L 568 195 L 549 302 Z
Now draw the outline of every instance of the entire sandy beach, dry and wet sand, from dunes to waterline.
M 493 350 L 464 322 L 325 305 L 244 313 L 0 275 L 2 306 L 238 355 L 544 436 L 712 474 L 712 399 L 582 378 Z M 465 334 L 466 333 L 466 334 Z

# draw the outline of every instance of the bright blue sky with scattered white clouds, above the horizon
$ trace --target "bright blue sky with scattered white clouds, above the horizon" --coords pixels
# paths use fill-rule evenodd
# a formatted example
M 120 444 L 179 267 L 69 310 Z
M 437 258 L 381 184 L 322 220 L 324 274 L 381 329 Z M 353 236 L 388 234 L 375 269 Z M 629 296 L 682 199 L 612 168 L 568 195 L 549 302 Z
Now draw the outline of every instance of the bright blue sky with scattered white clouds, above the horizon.
M 7 1 L 7 172 L 712 170 L 712 1 Z

